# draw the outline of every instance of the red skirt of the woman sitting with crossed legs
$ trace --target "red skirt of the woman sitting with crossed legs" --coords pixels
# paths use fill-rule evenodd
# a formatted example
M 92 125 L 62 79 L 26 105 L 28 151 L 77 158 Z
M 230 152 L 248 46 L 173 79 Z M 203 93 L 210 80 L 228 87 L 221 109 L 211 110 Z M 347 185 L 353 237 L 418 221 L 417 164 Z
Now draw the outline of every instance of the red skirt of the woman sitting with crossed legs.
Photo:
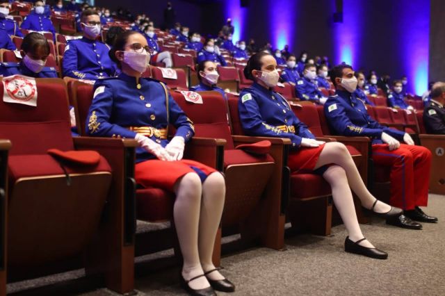
M 325 147 L 324 144 L 314 148 L 300 148 L 297 151 L 289 153 L 288 166 L 291 172 L 307 173 L 313 172 L 318 157 Z

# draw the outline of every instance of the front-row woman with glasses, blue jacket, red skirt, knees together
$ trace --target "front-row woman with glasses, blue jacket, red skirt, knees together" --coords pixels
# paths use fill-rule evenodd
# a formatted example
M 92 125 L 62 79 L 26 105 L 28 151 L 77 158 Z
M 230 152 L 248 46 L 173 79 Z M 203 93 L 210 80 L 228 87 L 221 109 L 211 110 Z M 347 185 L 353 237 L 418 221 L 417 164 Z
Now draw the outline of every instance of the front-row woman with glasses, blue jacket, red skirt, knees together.
M 234 285 L 211 261 L 225 199 L 223 175 L 197 161 L 182 159 L 184 142 L 194 134 L 193 122 L 163 83 L 141 78 L 148 50 L 140 33 L 126 31 L 118 36 L 110 58 L 122 74 L 96 81 L 86 132 L 138 141 L 136 182 L 176 194 L 173 216 L 184 258 L 181 281 L 188 293 L 215 295 L 213 289 L 221 288 L 233 292 Z M 169 124 L 176 128 L 170 142 Z

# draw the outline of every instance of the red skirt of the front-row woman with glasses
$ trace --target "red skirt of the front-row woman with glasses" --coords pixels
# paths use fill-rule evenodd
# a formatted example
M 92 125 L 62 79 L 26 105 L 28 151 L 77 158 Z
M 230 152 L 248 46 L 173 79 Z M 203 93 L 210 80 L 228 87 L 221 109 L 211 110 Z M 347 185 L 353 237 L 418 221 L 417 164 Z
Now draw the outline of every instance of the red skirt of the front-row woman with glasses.
M 154 159 L 136 163 L 134 175 L 136 183 L 144 187 L 158 187 L 173 191 L 176 181 L 189 172 L 197 173 L 202 179 L 202 174 L 209 176 L 209 174 L 217 171 L 213 167 L 188 159 L 181 161 Z

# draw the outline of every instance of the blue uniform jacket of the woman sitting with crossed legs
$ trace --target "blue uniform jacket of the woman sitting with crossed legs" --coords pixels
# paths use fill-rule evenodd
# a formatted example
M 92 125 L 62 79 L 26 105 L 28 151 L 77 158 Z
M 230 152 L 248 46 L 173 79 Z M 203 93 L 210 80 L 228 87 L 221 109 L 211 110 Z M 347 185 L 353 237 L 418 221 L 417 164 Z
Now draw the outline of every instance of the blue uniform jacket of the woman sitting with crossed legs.
M 289 138 L 293 149 L 300 147 L 302 138 L 315 138 L 284 97 L 258 83 L 241 91 L 238 110 L 247 135 Z

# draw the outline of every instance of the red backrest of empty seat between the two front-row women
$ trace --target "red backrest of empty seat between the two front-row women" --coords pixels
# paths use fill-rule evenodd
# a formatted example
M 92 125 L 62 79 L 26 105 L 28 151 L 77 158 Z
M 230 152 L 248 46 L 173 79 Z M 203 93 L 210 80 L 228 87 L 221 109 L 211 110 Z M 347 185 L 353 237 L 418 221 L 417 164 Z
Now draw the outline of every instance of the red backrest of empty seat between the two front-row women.
M 234 149 L 234 142 L 228 122 L 227 102 L 219 92 L 198 92 L 202 104 L 186 101 L 178 91 L 170 91 L 173 99 L 195 125 L 195 136 L 225 139 L 225 149 Z

